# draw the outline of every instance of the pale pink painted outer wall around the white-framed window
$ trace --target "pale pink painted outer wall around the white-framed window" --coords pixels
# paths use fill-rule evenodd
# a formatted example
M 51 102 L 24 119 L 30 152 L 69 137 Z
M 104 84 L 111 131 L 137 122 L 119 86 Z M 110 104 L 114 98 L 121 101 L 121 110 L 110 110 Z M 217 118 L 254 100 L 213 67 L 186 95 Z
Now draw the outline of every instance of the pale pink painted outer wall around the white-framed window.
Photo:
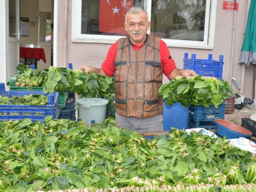
M 247 1 L 238 0 L 239 11 L 236 13 L 236 29 L 235 29 L 235 43 L 234 43 L 234 59 L 232 76 L 236 78 L 241 84 L 241 70 L 242 65 L 238 64 L 242 43 L 244 40 L 244 32 L 246 27 L 246 9 Z M 174 58 L 177 67 L 183 68 L 184 53 L 188 53 L 188 58 L 191 54 L 196 54 L 198 59 L 208 59 L 208 54 L 212 54 L 214 60 L 219 60 L 220 55 L 224 55 L 224 67 L 222 78 L 229 81 L 230 75 L 230 61 L 231 61 L 231 47 L 232 47 L 232 32 L 233 32 L 233 11 L 222 10 L 222 0 L 218 0 L 216 12 L 216 28 L 214 48 L 212 50 L 194 49 L 194 48 L 175 48 L 169 47 L 169 50 Z M 68 1 L 68 53 L 67 62 L 73 64 L 76 69 L 82 64 L 100 68 L 102 62 L 106 58 L 108 49 L 112 44 L 102 43 L 82 43 L 72 42 L 72 0 Z M 57 38 L 57 66 L 64 66 L 63 51 L 64 51 L 64 1 L 58 0 L 58 38 Z M 244 95 L 252 99 L 252 80 L 253 67 L 250 65 L 246 67 Z M 165 77 L 164 82 L 168 82 Z M 239 91 L 236 84 L 231 83 L 234 91 Z

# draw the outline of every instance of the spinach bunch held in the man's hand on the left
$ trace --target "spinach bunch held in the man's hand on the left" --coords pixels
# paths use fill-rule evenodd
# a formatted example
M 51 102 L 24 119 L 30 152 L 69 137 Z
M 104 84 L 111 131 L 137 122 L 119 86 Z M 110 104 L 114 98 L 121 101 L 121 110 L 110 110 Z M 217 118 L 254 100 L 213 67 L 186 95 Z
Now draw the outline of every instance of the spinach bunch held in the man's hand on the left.
M 108 76 L 51 66 L 43 87 L 44 93 L 75 92 L 82 97 L 98 98 L 114 90 L 114 83 Z

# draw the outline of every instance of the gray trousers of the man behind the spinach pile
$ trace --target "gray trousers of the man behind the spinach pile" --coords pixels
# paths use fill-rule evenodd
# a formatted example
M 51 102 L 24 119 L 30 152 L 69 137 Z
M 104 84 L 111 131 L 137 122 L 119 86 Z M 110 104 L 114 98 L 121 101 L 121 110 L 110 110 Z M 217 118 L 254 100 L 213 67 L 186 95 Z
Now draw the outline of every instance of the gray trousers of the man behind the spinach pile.
M 123 117 L 116 112 L 116 127 L 138 132 L 161 132 L 164 130 L 163 115 L 141 119 Z

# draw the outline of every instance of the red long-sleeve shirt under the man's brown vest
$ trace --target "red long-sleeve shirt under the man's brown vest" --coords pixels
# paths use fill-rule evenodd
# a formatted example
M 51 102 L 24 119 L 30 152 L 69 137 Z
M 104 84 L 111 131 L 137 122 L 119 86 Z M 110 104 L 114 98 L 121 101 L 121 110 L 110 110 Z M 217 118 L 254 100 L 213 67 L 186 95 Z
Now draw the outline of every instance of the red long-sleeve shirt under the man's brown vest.
M 136 44 L 132 44 L 132 46 L 136 51 L 138 51 L 142 45 L 144 45 L 144 43 L 142 43 L 140 46 L 137 46 Z M 163 74 L 165 74 L 169 78 L 172 71 L 176 69 L 176 64 L 171 57 L 170 51 L 166 43 L 163 40 L 161 40 L 160 42 L 159 49 L 160 49 Z M 108 54 L 106 56 L 106 60 L 101 65 L 102 70 L 109 77 L 114 75 L 114 72 L 115 72 L 114 60 L 116 58 L 116 52 L 117 52 L 117 41 L 110 47 L 110 49 L 108 50 Z

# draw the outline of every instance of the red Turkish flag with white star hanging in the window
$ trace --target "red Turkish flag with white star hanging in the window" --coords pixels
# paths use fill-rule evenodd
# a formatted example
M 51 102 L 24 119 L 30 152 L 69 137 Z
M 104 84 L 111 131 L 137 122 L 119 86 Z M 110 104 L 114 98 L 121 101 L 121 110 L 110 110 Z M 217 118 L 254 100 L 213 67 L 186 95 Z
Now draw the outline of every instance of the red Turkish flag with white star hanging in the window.
M 125 15 L 133 7 L 133 0 L 100 0 L 99 31 L 124 33 Z

